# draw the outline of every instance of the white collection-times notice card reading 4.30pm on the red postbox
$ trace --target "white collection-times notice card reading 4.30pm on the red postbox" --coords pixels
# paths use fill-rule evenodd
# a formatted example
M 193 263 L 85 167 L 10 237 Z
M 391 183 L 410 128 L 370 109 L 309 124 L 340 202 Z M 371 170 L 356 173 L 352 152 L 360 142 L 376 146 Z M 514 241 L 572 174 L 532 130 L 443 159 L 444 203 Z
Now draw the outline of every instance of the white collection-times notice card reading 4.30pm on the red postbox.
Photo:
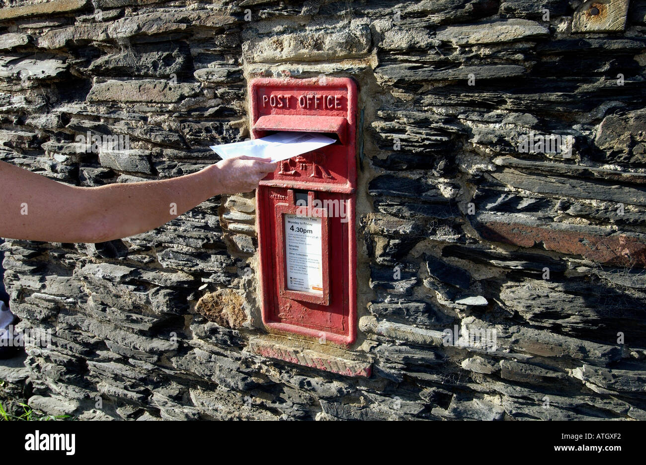
M 287 289 L 322 295 L 321 219 L 292 214 L 284 217 Z

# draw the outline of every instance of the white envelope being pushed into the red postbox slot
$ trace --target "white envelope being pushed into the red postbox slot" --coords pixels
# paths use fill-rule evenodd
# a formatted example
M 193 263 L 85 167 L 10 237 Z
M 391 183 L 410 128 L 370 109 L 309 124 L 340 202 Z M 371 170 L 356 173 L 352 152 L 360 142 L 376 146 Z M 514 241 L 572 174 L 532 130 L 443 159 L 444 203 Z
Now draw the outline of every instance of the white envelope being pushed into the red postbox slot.
M 333 138 L 311 132 L 276 132 L 261 139 L 213 145 L 211 149 L 220 155 L 222 160 L 246 155 L 258 158 L 271 157 L 271 161 L 280 161 L 335 142 Z

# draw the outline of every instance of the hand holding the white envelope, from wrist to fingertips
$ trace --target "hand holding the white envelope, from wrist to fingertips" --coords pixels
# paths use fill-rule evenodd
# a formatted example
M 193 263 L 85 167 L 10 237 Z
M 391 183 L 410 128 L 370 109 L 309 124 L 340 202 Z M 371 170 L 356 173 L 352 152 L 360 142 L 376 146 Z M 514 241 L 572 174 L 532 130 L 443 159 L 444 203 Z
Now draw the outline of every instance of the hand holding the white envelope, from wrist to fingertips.
M 214 168 L 218 173 L 216 189 L 222 194 L 238 194 L 250 192 L 258 187 L 258 183 L 267 173 L 274 172 L 278 163 L 271 163 L 271 158 L 256 158 L 240 156 L 218 161 Z

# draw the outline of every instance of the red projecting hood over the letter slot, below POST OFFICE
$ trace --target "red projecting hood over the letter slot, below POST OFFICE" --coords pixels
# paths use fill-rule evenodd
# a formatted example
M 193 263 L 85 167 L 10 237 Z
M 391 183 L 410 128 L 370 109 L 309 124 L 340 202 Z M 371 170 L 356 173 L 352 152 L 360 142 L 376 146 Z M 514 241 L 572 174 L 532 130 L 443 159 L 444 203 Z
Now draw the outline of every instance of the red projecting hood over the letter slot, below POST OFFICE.
M 265 115 L 258 118 L 255 131 L 295 131 L 334 134 L 335 139 L 346 145 L 348 120 L 342 116 Z M 265 134 L 267 135 L 267 134 Z

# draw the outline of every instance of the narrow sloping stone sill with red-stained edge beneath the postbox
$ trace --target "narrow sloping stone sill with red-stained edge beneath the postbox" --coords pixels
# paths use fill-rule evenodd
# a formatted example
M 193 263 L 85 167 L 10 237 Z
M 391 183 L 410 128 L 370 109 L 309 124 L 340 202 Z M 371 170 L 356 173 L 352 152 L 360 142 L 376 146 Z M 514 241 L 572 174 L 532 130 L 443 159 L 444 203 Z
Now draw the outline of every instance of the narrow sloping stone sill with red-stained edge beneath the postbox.
M 369 378 L 372 372 L 372 361 L 366 356 L 287 336 L 253 336 L 249 339 L 248 350 L 256 355 L 348 377 Z

